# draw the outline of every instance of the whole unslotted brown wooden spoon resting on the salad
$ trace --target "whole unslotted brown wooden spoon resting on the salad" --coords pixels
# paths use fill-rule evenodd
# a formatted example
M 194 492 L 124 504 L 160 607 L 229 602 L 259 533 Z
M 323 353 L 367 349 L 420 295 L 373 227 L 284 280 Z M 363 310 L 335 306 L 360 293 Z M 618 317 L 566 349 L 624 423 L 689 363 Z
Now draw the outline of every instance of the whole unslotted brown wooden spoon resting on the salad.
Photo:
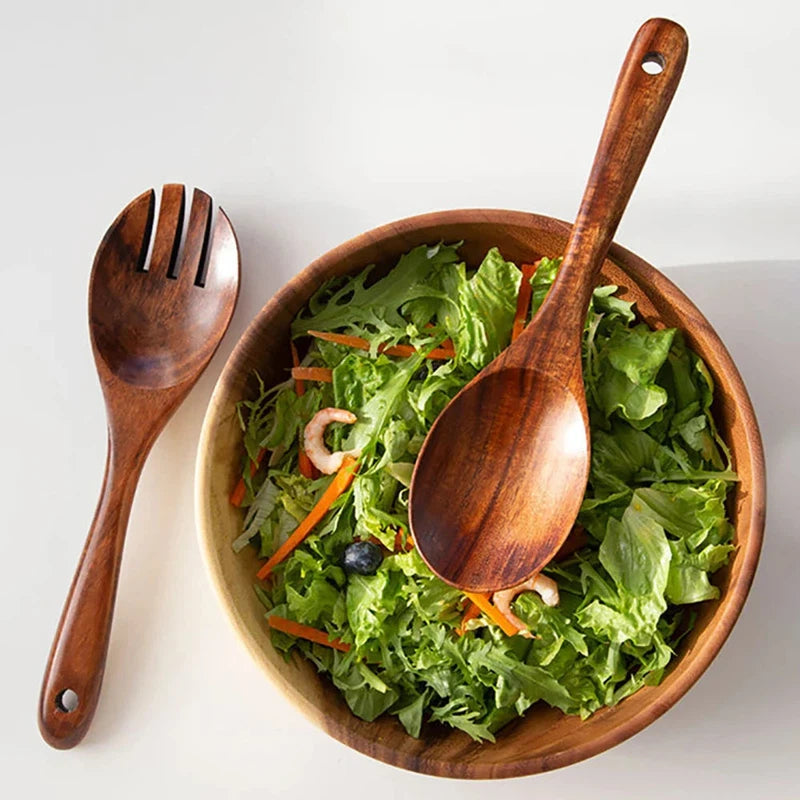
M 555 283 L 525 332 L 456 395 L 420 451 L 411 530 L 431 569 L 461 589 L 526 580 L 578 514 L 591 454 L 581 370 L 586 311 L 687 49 L 674 22 L 652 19 L 639 29 Z

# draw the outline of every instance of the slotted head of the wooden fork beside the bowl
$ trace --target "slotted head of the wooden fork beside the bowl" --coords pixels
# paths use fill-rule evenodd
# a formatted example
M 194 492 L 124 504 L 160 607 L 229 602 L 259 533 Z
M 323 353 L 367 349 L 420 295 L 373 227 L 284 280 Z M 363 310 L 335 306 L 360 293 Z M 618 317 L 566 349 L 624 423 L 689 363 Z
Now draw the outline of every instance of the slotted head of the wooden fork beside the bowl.
M 228 328 L 239 293 L 236 235 L 200 189 L 183 233 L 186 192 L 166 184 L 129 203 L 106 232 L 89 284 L 98 366 L 133 386 L 193 383 Z M 151 236 L 152 246 L 151 246 Z M 149 254 L 149 255 L 148 255 Z

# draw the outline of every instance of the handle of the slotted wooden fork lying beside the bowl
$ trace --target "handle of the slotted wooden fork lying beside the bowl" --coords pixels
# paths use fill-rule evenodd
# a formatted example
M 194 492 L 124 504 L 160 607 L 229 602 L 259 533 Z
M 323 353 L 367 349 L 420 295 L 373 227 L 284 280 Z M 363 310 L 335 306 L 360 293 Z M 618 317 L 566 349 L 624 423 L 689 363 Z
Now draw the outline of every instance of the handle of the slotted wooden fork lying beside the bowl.
M 39 697 L 39 730 L 53 747 L 74 747 L 97 708 L 128 516 L 149 445 L 109 436 L 103 488 L 64 604 Z

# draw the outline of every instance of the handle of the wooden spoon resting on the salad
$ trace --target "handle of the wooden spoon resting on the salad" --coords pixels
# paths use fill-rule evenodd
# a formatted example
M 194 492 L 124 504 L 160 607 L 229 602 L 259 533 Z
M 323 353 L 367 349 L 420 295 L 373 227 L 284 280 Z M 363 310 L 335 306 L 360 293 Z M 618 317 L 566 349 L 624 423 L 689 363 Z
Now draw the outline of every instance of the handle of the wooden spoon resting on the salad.
M 642 25 L 625 56 L 558 279 L 539 314 L 583 329 L 594 278 L 683 73 L 689 40 L 676 22 Z

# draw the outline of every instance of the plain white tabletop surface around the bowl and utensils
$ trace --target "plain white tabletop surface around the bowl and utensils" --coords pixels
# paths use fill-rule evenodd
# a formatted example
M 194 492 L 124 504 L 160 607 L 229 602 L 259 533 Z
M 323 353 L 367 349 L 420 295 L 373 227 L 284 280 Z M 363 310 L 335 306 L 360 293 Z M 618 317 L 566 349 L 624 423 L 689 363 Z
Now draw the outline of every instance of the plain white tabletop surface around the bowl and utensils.
M 73 0 L 2 12 L 4 796 L 798 796 L 795 3 Z M 687 28 L 689 61 L 617 240 L 700 305 L 752 393 L 770 503 L 753 591 L 689 695 L 610 752 L 491 787 L 404 773 L 312 727 L 229 629 L 193 519 L 205 406 L 248 320 L 344 239 L 449 207 L 571 218 L 622 57 L 655 15 Z M 56 752 L 36 729 L 39 682 L 105 456 L 89 268 L 118 210 L 165 181 L 203 187 L 233 219 L 241 299 L 145 468 L 101 705 L 85 741 Z

